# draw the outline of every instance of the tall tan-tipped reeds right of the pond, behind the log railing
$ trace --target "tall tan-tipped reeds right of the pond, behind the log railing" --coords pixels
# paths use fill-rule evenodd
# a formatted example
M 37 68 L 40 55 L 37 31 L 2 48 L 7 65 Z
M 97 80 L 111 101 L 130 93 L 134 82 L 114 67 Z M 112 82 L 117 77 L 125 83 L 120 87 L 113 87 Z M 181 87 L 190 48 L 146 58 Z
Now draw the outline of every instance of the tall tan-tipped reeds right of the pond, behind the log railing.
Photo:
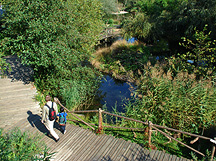
M 172 71 L 165 73 L 157 65 L 144 68 L 135 94 L 142 98 L 133 103 L 138 106 L 139 119 L 192 133 L 215 124 L 216 88 L 211 79 L 197 81 L 194 74 L 187 72 L 173 77 Z M 132 113 L 129 109 L 128 113 Z

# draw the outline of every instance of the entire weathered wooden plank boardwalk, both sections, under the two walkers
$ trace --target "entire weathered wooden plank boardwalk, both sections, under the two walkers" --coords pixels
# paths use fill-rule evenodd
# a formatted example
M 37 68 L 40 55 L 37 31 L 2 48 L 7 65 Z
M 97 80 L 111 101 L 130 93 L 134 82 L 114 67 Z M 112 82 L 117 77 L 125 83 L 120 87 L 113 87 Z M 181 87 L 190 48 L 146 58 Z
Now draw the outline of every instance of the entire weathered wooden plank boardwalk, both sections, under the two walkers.
M 8 58 L 8 61 L 16 59 Z M 0 78 L 0 127 L 7 132 L 14 127 L 21 131 L 40 135 L 41 142 L 49 148 L 49 152 L 56 152 L 55 161 L 188 161 L 175 155 L 162 151 L 147 150 L 138 144 L 118 139 L 110 135 L 96 135 L 89 129 L 67 124 L 66 134 L 59 131 L 55 124 L 55 131 L 60 136 L 59 142 L 46 136 L 48 132 L 41 123 L 41 110 L 38 102 L 34 101 L 36 89 L 32 84 L 26 70 L 13 64 L 13 73 L 8 73 L 7 78 Z M 22 70 L 21 70 L 22 69 Z M 23 72 L 21 72 L 21 71 Z M 16 72 L 15 72 L 16 71 Z M 18 80 L 18 81 L 17 81 Z M 27 85 L 26 85 L 27 84 Z

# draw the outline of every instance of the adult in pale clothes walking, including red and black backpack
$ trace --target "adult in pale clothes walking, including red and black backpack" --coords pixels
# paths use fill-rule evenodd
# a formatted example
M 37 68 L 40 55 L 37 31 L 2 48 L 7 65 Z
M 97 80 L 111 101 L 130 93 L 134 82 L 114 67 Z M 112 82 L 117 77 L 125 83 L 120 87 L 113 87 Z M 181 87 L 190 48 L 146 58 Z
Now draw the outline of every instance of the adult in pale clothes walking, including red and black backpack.
M 56 142 L 58 142 L 60 138 L 53 129 L 58 114 L 57 104 L 51 101 L 49 95 L 46 96 L 45 100 L 46 104 L 43 107 L 41 122 L 46 126 L 47 130 L 49 130 L 50 133 L 48 136 L 51 135 L 55 138 Z

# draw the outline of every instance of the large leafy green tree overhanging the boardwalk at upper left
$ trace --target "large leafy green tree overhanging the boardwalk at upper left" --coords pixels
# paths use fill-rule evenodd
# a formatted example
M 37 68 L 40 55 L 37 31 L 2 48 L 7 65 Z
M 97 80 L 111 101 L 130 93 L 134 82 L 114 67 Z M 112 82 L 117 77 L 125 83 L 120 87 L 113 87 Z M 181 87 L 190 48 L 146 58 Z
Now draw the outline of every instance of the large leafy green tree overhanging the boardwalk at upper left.
M 102 31 L 100 3 L 97 0 L 10 0 L 4 6 L 1 52 L 17 54 L 23 64 L 33 67 L 36 85 L 42 92 L 65 101 L 74 91 L 60 93 L 62 87 L 70 90 L 82 86 L 91 92 L 79 93 L 77 89 L 75 95 L 91 96 L 97 88 L 97 79 L 85 60 Z M 75 87 L 68 80 L 79 85 Z

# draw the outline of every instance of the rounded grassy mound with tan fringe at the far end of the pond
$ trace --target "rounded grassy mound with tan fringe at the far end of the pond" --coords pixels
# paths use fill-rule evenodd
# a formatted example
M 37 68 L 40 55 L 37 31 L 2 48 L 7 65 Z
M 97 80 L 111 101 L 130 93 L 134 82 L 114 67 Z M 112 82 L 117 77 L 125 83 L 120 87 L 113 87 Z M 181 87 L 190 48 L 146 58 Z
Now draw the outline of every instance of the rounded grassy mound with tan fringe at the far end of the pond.
M 102 48 L 94 53 L 92 64 L 103 72 L 111 73 L 115 78 L 133 79 L 148 62 L 150 56 L 149 49 L 145 45 L 119 40 L 111 47 Z

